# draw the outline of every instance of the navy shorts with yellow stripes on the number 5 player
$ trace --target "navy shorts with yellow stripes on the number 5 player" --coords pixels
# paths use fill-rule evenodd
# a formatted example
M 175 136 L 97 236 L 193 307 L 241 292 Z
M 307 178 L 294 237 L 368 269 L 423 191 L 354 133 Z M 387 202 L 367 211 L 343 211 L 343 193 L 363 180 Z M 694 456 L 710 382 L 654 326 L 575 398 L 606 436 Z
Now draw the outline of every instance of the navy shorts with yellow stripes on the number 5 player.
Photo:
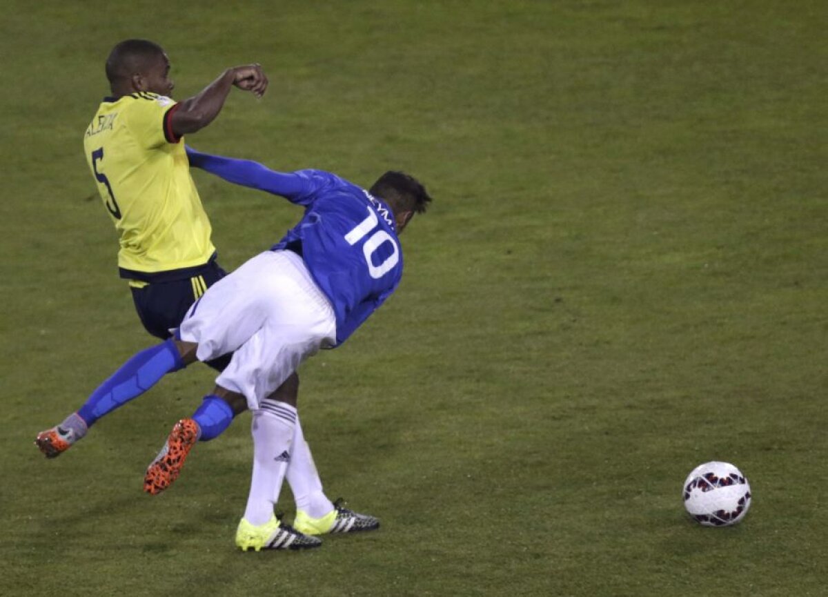
M 144 328 L 156 338 L 167 339 L 170 330 L 181 325 L 187 310 L 205 291 L 227 275 L 218 263 L 211 261 L 194 272 L 193 277 L 171 282 L 152 282 L 142 288 L 132 287 L 132 301 Z M 210 367 L 222 370 L 231 355 L 211 361 Z

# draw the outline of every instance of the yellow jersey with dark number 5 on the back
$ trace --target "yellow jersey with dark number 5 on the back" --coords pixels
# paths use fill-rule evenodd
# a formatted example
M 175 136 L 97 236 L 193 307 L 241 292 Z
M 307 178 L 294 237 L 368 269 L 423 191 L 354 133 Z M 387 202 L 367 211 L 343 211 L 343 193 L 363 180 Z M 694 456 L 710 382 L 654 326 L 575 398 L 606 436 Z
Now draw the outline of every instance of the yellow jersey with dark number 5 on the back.
M 84 135 L 89 170 L 115 229 L 121 277 L 190 277 L 214 257 L 209 219 L 172 132 L 177 104 L 151 93 L 104 99 Z

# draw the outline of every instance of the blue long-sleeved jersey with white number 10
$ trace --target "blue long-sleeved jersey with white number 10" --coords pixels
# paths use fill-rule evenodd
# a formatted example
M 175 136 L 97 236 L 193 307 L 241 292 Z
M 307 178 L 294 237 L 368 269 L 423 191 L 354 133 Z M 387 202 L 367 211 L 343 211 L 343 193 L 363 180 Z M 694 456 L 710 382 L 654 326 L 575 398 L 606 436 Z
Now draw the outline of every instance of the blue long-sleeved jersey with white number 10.
M 330 172 L 283 173 L 254 161 L 209 156 L 187 148 L 190 165 L 226 181 L 282 195 L 305 215 L 273 250 L 301 254 L 336 315 L 341 344 L 397 288 L 402 249 L 388 205 Z

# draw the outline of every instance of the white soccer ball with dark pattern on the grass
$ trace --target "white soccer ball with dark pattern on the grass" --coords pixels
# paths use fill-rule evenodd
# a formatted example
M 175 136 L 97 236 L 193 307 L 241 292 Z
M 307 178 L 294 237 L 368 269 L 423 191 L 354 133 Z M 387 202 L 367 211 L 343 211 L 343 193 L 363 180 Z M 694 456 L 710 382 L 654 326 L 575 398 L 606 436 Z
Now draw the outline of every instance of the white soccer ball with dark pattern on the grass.
M 750 508 L 750 484 L 742 471 L 727 462 L 705 462 L 684 482 L 684 507 L 705 527 L 728 527 Z

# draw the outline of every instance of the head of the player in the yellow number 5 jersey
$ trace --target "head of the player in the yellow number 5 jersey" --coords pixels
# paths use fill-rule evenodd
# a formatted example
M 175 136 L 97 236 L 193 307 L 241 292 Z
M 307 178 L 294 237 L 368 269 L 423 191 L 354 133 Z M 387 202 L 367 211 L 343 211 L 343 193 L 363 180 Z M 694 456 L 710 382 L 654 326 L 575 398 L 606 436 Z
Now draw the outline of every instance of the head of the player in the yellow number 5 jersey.
M 109 52 L 106 78 L 115 96 L 136 91 L 171 95 L 170 59 L 164 49 L 147 40 L 124 40 Z

